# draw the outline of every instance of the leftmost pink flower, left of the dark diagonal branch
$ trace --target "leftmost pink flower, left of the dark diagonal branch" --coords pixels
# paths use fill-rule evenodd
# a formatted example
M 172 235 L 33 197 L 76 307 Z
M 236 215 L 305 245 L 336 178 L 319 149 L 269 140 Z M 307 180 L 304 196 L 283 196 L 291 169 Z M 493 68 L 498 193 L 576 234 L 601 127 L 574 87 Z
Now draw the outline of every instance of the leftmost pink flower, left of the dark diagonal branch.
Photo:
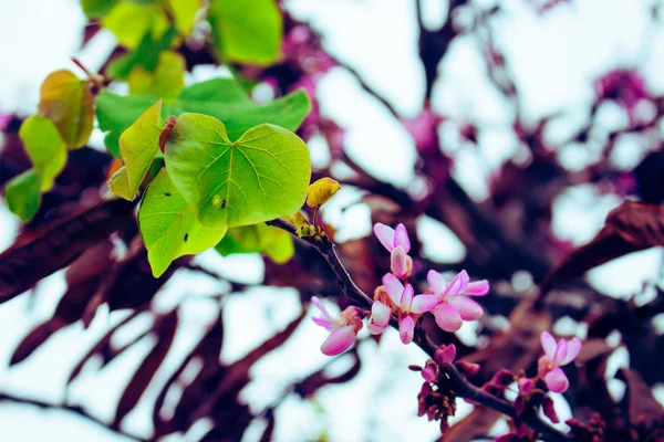
M 315 305 L 323 316 L 313 316 L 317 325 L 330 332 L 330 336 L 321 346 L 323 355 L 335 356 L 345 351 L 355 340 L 357 332 L 362 329 L 362 314 L 357 307 L 346 307 L 339 317 L 330 315 L 321 299 L 312 297 L 311 302 Z

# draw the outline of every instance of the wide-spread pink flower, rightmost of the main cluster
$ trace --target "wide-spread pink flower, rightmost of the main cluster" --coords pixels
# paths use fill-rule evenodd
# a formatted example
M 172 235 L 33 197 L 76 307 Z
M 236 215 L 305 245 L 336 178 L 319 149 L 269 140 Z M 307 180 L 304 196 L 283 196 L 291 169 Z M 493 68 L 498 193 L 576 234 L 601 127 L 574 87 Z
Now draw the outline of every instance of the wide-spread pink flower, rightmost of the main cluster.
M 489 293 L 488 281 L 471 283 L 465 270 L 456 275 L 449 285 L 442 274 L 433 270 L 427 274 L 427 281 L 438 302 L 433 311 L 438 327 L 454 333 L 461 328 L 464 320 L 477 320 L 481 317 L 481 307 L 468 296 L 484 296 Z

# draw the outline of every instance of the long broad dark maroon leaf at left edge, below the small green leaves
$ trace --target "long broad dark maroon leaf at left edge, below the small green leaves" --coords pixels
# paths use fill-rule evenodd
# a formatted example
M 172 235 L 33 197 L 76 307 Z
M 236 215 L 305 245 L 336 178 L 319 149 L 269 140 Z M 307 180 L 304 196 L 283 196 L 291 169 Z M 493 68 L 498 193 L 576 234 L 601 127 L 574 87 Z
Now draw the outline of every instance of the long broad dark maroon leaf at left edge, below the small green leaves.
M 0 255 L 0 303 L 59 271 L 132 219 L 134 204 L 110 200 L 17 239 Z

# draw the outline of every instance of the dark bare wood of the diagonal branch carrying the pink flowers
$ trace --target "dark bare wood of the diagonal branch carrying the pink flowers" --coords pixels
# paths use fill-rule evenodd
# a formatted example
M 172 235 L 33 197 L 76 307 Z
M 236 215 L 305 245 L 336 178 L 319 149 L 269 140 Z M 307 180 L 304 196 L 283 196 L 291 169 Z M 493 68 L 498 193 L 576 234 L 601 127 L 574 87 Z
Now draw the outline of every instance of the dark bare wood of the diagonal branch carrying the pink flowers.
M 291 233 L 294 236 L 298 236 L 295 227 L 283 219 L 268 221 L 267 224 L 279 228 Z M 352 298 L 361 307 L 371 309 L 371 305 L 373 303 L 372 298 L 360 287 L 357 287 L 357 285 L 353 282 L 353 278 L 345 270 L 345 267 L 341 263 L 341 260 L 339 259 L 339 255 L 336 254 L 334 243 L 332 243 L 326 236 L 324 236 L 322 241 L 315 241 L 311 238 L 302 238 L 300 240 L 313 246 L 325 259 L 325 261 L 330 265 L 330 269 L 332 269 L 332 272 L 334 272 L 339 290 L 344 296 Z M 395 326 L 394 322 L 392 323 L 392 326 Z M 414 343 L 419 348 L 422 348 L 422 350 L 424 350 L 424 352 L 426 352 L 430 358 L 433 358 L 437 346 L 430 340 L 430 338 L 425 333 L 423 333 L 423 330 L 418 332 L 419 333 L 417 334 L 417 338 L 414 340 Z M 470 399 L 485 407 L 489 407 L 510 418 L 518 417 L 517 412 L 515 411 L 515 407 L 511 402 L 508 402 L 507 400 L 498 398 L 496 396 L 489 394 L 488 392 L 481 390 L 477 386 L 470 383 L 456 369 L 456 367 L 448 366 L 442 367 L 442 369 L 457 387 L 457 396 Z M 539 419 L 539 417 L 535 412 L 526 412 L 519 418 L 521 418 L 528 427 L 541 433 L 542 438 L 548 441 L 564 442 L 573 440 L 570 435 L 561 433 L 560 431 L 556 430 L 554 428 Z

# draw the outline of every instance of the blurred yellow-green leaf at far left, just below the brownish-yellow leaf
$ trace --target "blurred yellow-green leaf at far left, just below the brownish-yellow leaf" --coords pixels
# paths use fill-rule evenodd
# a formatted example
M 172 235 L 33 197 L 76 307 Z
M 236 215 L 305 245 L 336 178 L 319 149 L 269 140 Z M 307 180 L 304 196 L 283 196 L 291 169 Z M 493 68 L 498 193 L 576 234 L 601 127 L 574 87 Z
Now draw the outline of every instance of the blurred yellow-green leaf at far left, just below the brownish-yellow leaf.
M 58 128 L 49 118 L 34 115 L 23 122 L 19 137 L 40 178 L 40 190 L 51 190 L 66 162 L 66 146 Z

